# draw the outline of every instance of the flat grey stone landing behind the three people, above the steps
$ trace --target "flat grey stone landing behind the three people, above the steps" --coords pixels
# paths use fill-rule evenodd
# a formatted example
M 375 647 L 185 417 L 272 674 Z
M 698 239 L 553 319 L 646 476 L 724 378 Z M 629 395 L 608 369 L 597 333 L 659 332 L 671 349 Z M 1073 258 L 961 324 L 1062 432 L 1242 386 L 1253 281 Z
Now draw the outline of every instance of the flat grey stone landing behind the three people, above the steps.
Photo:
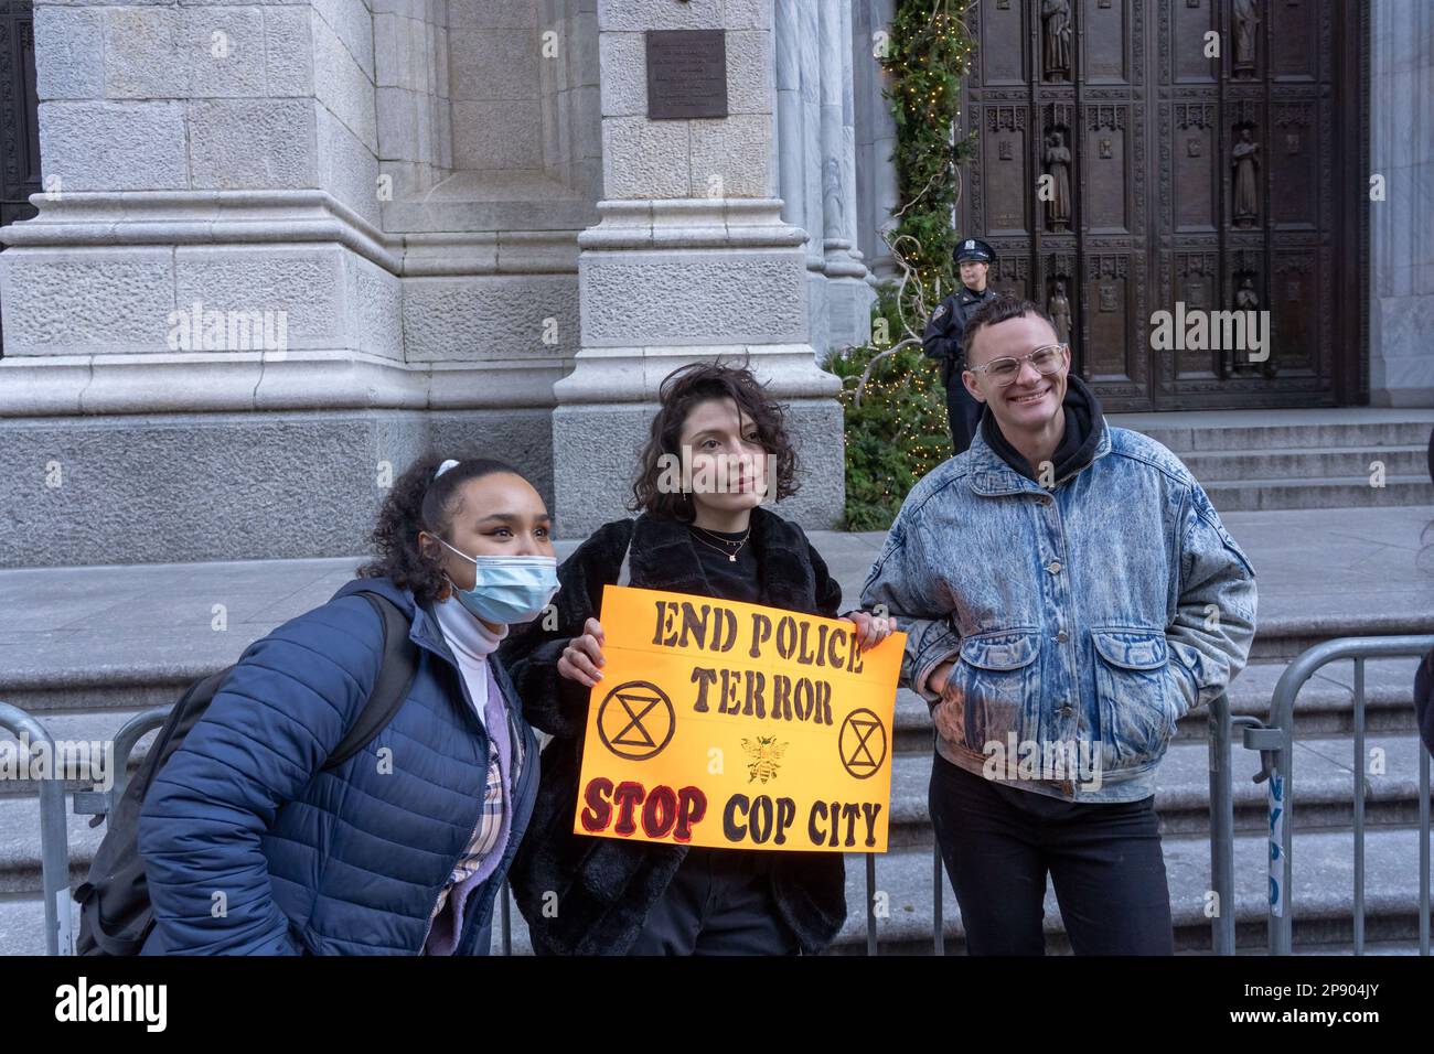
M 1434 509 L 1230 512 L 1263 627 L 1325 632 L 1424 619 L 1434 632 Z M 1425 533 L 1425 531 L 1428 532 Z M 809 538 L 855 605 L 885 532 Z M 558 542 L 558 556 L 578 541 Z M 1421 548 L 1424 549 L 1421 556 Z M 0 571 L 0 701 L 22 688 L 191 677 L 327 601 L 358 558 Z M 1392 628 L 1390 631 L 1394 631 Z

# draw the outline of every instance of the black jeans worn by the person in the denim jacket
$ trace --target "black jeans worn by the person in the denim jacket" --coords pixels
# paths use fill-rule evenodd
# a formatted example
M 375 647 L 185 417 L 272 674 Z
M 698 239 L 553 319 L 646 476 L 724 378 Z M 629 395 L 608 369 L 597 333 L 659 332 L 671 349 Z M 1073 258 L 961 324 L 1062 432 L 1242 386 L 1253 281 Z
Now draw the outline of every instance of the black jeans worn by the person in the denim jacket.
M 1172 955 L 1154 796 L 1123 804 L 1018 790 L 936 754 L 931 819 L 971 955 L 1044 955 L 1045 873 L 1077 955 Z

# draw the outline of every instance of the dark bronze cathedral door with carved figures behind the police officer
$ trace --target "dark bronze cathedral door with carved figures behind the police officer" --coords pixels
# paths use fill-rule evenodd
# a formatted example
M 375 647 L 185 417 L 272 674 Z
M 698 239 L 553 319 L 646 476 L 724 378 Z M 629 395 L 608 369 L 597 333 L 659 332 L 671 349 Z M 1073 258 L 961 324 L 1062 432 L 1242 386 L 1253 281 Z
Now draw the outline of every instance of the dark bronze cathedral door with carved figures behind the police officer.
M 1364 4 L 981 0 L 967 23 L 961 232 L 1108 410 L 1367 402 Z M 1238 310 L 1263 348 L 1192 321 Z

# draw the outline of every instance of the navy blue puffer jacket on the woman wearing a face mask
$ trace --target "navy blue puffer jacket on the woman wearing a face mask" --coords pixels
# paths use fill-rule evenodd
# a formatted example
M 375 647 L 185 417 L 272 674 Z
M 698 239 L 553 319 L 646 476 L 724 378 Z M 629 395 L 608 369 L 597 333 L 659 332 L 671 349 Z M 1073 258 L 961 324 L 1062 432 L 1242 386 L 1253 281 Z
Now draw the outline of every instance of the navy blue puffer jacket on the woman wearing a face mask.
M 409 614 L 419 670 L 389 727 L 321 771 L 383 657 L 383 622 L 360 589 Z M 538 787 L 536 737 L 490 668 L 526 756 L 502 863 L 467 898 L 459 955 L 488 951 Z M 389 579 L 348 582 L 250 645 L 155 777 L 139 823 L 156 919 L 145 954 L 419 954 L 478 822 L 488 750 L 437 619 Z

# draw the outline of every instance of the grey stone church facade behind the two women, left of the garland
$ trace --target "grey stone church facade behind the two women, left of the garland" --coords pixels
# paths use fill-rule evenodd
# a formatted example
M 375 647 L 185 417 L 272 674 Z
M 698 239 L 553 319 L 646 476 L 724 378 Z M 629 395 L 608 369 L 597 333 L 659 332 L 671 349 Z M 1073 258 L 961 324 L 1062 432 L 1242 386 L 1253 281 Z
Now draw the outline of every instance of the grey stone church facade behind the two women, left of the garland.
M 714 356 L 792 406 L 787 515 L 833 525 L 869 44 L 852 0 L 807 0 L 799 37 L 786 9 L 37 0 L 0 562 L 354 552 L 427 447 L 513 462 L 587 531 L 663 376 Z M 650 29 L 726 30 L 727 118 L 647 118 Z

